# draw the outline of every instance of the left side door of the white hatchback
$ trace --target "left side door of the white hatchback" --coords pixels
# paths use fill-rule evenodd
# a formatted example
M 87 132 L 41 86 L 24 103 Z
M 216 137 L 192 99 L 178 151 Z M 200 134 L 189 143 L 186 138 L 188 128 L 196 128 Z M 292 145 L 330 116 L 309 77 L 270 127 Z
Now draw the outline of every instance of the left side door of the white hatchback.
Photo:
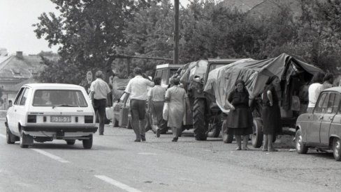
M 10 127 L 10 131 L 12 133 L 18 133 L 17 131 L 17 112 L 18 112 L 18 106 L 20 104 L 20 99 L 22 97 L 22 94 L 24 93 L 25 88 L 20 88 L 19 92 L 17 93 L 17 97 L 15 97 L 15 101 L 13 103 L 13 106 L 8 109 L 8 126 Z

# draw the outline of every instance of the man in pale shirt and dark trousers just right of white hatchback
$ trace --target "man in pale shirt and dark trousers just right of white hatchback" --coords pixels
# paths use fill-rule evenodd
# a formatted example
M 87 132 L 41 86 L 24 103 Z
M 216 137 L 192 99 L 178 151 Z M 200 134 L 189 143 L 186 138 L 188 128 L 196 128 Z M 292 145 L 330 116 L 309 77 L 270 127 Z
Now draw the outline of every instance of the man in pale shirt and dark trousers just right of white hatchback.
M 95 77 L 96 80 L 90 86 L 90 98 L 92 99 L 92 106 L 94 106 L 95 113 L 99 113 L 99 135 L 103 135 L 104 122 L 106 120 L 106 100 L 111 90 L 108 83 L 103 81 L 103 72 L 97 71 Z

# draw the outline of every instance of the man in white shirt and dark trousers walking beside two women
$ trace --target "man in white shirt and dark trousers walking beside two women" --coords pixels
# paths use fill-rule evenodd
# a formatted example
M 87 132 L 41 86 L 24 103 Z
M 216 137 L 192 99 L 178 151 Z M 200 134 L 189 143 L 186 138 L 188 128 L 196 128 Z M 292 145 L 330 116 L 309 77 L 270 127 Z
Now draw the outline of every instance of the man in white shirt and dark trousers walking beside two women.
M 135 142 L 145 141 L 145 108 L 147 97 L 147 88 L 154 86 L 154 83 L 143 77 L 142 70 L 139 67 L 133 69 L 134 78 L 126 86 L 126 97 L 124 104 L 130 96 L 131 125 L 136 134 Z

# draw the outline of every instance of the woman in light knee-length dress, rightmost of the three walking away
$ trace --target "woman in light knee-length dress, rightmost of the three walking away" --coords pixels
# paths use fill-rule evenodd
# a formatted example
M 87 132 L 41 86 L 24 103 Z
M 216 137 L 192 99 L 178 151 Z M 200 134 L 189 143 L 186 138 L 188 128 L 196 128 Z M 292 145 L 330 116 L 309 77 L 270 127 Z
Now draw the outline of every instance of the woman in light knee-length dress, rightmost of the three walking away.
M 186 91 L 179 86 L 180 79 L 172 79 L 173 86 L 166 91 L 166 102 L 168 102 L 168 122 L 167 126 L 172 129 L 173 142 L 177 139 L 182 131 L 182 120 L 185 113 L 186 102 L 189 102 Z M 189 106 L 189 104 L 188 104 Z

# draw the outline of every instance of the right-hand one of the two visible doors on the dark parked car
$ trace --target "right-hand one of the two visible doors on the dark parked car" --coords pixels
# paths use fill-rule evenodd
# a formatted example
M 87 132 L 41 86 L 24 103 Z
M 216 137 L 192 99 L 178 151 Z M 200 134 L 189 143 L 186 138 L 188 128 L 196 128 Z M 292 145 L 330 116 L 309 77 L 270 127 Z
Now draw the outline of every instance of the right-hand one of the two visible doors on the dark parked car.
M 331 123 L 338 112 L 338 105 L 340 102 L 340 94 L 336 92 L 329 93 L 328 106 L 324 117 L 321 120 L 320 128 L 320 144 L 321 146 L 328 147 L 329 145 L 329 129 L 331 128 Z

